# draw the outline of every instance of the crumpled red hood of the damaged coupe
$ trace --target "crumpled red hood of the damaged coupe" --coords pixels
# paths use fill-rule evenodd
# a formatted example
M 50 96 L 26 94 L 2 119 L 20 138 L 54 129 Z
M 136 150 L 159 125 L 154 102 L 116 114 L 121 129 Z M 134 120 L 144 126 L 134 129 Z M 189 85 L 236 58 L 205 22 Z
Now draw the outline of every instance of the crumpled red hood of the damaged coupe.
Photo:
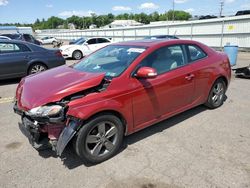
M 60 66 L 23 79 L 17 88 L 18 107 L 23 110 L 60 101 L 62 98 L 97 86 L 104 73 L 87 73 Z

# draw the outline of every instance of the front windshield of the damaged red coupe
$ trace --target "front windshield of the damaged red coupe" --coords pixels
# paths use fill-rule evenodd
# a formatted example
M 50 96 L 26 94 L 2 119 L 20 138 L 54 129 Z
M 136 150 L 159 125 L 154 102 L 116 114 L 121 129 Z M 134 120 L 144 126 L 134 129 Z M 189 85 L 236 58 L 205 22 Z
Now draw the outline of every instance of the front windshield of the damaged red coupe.
M 110 45 L 96 51 L 73 66 L 83 72 L 105 73 L 117 77 L 145 51 L 145 47 Z

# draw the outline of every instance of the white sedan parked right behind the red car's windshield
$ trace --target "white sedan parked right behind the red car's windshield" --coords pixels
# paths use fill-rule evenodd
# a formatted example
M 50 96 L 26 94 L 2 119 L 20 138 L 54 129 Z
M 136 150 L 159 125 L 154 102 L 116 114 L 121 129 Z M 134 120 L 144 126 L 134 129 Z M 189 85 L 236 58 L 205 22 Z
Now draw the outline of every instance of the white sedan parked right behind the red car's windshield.
M 63 45 L 60 47 L 64 58 L 81 59 L 84 56 L 104 47 L 111 43 L 108 38 L 96 37 L 87 39 L 80 44 Z

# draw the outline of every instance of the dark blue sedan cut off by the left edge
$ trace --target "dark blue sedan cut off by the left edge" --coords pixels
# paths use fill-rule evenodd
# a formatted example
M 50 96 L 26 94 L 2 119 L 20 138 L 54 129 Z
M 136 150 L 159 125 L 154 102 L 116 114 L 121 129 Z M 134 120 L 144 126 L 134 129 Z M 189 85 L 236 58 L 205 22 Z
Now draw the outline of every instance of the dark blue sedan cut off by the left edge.
M 60 50 L 18 41 L 0 40 L 0 80 L 24 77 L 65 64 Z

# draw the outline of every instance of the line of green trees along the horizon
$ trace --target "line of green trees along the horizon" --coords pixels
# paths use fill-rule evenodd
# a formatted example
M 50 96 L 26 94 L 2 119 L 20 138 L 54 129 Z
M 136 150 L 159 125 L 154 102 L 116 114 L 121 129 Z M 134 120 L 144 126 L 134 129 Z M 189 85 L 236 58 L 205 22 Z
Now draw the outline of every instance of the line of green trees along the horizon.
M 96 25 L 97 28 L 100 28 L 110 24 L 114 20 L 135 20 L 143 24 L 149 24 L 150 22 L 167 21 L 167 20 L 172 20 L 173 18 L 174 20 L 188 20 L 191 17 L 192 17 L 191 14 L 185 11 L 169 10 L 168 12 L 162 14 L 158 12 L 153 12 L 151 14 L 124 13 L 119 15 L 114 15 L 112 13 L 109 13 L 107 15 L 91 14 L 91 16 L 83 16 L 83 17 L 73 15 L 67 19 L 62 19 L 56 16 L 52 16 L 47 20 L 36 19 L 36 21 L 33 24 L 14 23 L 14 24 L 0 24 L 0 25 L 31 26 L 34 30 L 36 30 L 36 29 L 57 29 L 57 28 L 68 29 L 69 24 L 71 23 L 75 25 L 76 29 L 87 29 L 92 24 Z

